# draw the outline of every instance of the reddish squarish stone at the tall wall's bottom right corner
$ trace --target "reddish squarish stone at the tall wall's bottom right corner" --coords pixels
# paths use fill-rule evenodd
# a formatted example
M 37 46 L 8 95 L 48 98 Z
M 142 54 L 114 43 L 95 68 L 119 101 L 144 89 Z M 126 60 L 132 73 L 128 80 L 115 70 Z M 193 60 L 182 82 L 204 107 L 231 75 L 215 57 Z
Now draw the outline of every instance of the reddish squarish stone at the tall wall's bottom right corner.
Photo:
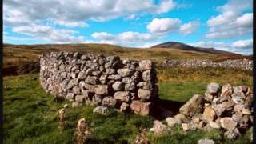
M 134 110 L 137 114 L 148 115 L 150 114 L 150 105 L 151 102 L 140 102 L 134 100 L 130 104 L 130 109 Z

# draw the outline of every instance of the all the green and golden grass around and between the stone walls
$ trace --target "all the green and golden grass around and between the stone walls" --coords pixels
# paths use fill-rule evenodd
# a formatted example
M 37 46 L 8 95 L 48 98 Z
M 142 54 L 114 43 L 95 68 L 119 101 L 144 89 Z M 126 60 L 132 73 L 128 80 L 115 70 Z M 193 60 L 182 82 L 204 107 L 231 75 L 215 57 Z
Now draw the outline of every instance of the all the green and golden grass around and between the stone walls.
M 158 69 L 160 98 L 186 102 L 193 94 L 203 94 L 206 84 L 230 82 L 234 86 L 252 86 L 252 73 L 221 69 Z M 39 86 L 38 74 L 5 77 L 4 82 L 4 142 L 5 143 L 74 143 L 75 128 L 80 118 L 86 118 L 94 130 L 88 143 L 131 143 L 140 128 L 152 127 L 153 118 L 138 114 L 112 112 L 108 116 L 93 114 L 92 106 L 69 108 L 66 112 L 66 129 L 58 129 L 57 111 L 64 104 L 54 102 Z M 235 141 L 227 140 L 220 131 L 202 130 L 183 132 L 180 126 L 169 134 L 156 137 L 148 134 L 153 143 L 197 143 L 201 138 L 211 138 L 217 143 L 250 143 L 250 132 Z

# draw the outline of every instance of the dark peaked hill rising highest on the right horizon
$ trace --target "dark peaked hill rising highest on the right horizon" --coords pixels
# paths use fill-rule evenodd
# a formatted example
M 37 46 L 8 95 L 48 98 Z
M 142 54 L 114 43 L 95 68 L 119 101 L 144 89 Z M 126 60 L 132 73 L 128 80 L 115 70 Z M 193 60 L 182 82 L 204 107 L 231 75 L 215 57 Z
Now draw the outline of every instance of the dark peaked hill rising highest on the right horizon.
M 173 48 L 173 49 L 179 49 L 179 50 L 191 50 L 191 51 L 199 51 L 203 53 L 209 53 L 209 54 L 235 54 L 224 50 L 216 50 L 214 48 L 202 48 L 202 47 L 195 47 L 190 46 L 182 42 L 164 42 L 160 43 L 158 45 L 152 46 L 152 48 Z M 241 54 L 236 54 L 241 55 Z

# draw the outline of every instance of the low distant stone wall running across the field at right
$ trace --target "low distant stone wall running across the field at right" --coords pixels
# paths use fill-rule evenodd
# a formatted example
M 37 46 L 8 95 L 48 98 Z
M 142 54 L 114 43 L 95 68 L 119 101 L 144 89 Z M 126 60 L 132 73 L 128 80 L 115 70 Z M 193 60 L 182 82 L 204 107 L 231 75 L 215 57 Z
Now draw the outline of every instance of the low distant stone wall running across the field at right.
M 158 66 L 163 67 L 222 67 L 222 68 L 231 68 L 238 70 L 253 70 L 253 61 L 248 59 L 235 59 L 235 60 L 226 60 L 223 62 L 213 62 L 210 59 L 191 59 L 191 60 L 166 60 L 158 63 Z

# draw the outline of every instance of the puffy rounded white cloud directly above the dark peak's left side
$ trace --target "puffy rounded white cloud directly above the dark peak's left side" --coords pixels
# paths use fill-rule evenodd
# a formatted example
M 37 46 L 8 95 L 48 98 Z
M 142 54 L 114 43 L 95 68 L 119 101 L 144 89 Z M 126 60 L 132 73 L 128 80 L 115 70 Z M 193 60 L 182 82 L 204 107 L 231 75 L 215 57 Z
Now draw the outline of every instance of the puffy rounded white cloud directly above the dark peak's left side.
M 146 28 L 152 34 L 163 35 L 178 30 L 180 23 L 178 18 L 154 18 Z

